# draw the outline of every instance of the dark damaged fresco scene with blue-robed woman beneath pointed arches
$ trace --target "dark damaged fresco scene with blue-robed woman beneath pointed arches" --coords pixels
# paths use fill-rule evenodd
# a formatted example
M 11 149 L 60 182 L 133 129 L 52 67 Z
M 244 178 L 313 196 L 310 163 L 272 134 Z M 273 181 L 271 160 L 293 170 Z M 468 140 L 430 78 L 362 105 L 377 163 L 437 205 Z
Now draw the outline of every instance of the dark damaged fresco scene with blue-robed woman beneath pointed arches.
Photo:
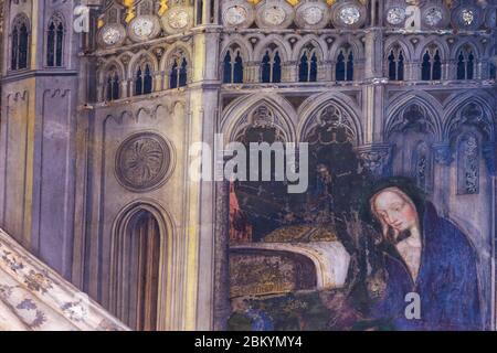
M 405 113 L 420 114 L 415 106 Z M 338 111 L 325 109 L 321 119 L 307 138 L 307 193 L 288 194 L 275 182 L 231 183 L 229 329 L 483 330 L 480 257 L 451 213 L 434 205 L 433 157 L 416 142 L 426 132 L 419 120 L 395 132 L 412 169 L 395 174 L 403 157 L 393 153 L 378 175 L 361 163 Z M 272 141 L 274 131 L 264 133 Z M 458 192 L 478 194 L 478 138 L 456 143 Z M 326 252 L 330 245 L 341 252 Z M 321 272 L 332 278 L 309 279 Z

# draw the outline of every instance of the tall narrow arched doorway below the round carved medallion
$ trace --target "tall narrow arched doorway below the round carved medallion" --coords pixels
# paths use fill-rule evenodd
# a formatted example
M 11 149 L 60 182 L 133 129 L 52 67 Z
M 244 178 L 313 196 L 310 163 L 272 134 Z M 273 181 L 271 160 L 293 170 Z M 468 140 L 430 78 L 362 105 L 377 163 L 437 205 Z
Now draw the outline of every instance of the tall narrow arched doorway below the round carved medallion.
M 117 227 L 113 256 L 115 314 L 138 331 L 160 330 L 161 225 L 148 207 L 129 212 Z

